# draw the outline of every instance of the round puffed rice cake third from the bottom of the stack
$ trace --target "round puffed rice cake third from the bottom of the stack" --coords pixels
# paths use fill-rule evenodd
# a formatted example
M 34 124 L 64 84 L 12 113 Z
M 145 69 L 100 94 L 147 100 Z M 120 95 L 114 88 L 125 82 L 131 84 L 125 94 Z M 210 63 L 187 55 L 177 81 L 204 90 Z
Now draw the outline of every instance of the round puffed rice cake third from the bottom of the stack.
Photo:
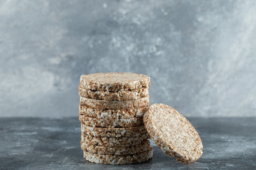
M 148 132 L 139 134 L 135 137 L 95 137 L 81 133 L 81 141 L 89 145 L 99 145 L 108 147 L 128 147 L 140 144 L 141 141 L 149 139 Z

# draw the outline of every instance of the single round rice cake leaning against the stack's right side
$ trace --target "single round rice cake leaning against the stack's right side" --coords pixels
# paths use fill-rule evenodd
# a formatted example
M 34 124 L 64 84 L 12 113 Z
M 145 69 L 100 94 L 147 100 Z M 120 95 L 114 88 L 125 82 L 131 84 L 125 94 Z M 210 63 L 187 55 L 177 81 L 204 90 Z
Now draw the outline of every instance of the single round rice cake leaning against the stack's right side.
M 202 141 L 190 122 L 165 104 L 153 104 L 143 116 L 150 137 L 166 155 L 182 163 L 197 161 L 202 155 Z

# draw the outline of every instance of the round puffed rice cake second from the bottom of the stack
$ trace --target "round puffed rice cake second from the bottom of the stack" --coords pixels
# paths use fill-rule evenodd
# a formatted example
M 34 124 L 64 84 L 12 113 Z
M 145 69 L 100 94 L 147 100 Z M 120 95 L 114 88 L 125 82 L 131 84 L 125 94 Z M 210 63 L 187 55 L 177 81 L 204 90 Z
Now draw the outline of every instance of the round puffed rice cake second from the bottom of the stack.
M 141 141 L 140 144 L 132 145 L 128 147 L 108 147 L 108 146 L 97 146 L 89 145 L 81 141 L 81 149 L 96 154 L 103 155 L 129 155 L 150 150 L 150 141 L 148 139 Z

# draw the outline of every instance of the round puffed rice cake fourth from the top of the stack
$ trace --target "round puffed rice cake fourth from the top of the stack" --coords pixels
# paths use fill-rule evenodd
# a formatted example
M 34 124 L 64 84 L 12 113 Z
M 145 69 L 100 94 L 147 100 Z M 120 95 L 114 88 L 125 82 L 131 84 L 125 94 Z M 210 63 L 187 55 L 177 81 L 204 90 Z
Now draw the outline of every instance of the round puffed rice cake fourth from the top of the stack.
M 143 108 L 111 110 L 111 109 L 89 108 L 83 104 L 79 104 L 80 115 L 85 115 L 88 117 L 104 118 L 104 119 L 127 119 L 132 117 L 142 117 L 146 110 L 148 110 L 148 106 Z

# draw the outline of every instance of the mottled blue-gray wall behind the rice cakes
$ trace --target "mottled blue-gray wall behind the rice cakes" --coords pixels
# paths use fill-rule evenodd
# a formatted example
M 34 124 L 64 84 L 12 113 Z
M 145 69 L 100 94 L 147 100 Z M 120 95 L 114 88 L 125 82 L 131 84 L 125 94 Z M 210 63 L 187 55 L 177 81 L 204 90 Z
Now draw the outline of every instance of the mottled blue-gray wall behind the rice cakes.
M 148 75 L 185 116 L 256 116 L 256 1 L 0 0 L 0 116 L 77 116 L 97 72 Z

